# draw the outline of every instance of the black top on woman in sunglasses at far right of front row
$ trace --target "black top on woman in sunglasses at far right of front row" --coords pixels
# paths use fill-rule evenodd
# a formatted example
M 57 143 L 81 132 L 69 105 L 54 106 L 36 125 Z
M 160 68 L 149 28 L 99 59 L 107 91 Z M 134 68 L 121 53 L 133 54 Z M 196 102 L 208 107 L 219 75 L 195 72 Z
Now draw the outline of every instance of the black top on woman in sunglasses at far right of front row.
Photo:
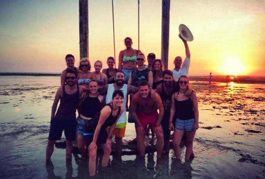
M 175 118 L 180 120 L 188 120 L 194 118 L 193 103 L 189 98 L 183 101 L 177 101 L 175 98 Z

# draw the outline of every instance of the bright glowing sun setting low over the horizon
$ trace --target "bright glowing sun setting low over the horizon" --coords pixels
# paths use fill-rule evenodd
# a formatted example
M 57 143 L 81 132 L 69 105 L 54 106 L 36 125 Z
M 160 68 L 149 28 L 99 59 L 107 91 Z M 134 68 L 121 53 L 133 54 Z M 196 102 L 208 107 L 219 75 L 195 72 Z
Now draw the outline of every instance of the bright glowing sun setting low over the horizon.
M 220 67 L 220 71 L 223 74 L 239 75 L 246 71 L 246 67 L 238 57 L 227 57 L 224 59 L 223 65 Z

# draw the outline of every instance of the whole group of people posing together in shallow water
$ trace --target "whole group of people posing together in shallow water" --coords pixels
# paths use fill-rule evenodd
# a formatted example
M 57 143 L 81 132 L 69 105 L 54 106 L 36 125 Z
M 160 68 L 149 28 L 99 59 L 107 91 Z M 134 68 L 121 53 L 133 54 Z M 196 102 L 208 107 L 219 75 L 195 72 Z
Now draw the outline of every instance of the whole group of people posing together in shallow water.
M 132 49 L 129 37 L 124 40 L 126 49 L 119 53 L 118 69 L 114 68 L 113 57 L 107 58 L 107 69 L 101 72 L 102 62 L 97 60 L 95 71 L 90 72 L 91 64 L 87 58 L 81 59 L 76 68 L 74 56 L 66 55 L 67 68 L 61 74 L 61 87 L 52 105 L 46 160 L 50 160 L 55 141 L 61 139 L 64 131 L 66 159 L 71 158 L 72 141 L 76 139 L 82 158 L 86 153 L 89 155 L 89 172 L 93 176 L 96 174 L 97 147 L 104 151 L 102 166 L 107 166 L 113 134 L 116 155 L 122 155 L 127 121 L 135 123 L 140 156 L 145 156 L 145 136 L 150 126 L 157 137 L 157 158 L 168 154 L 170 131 L 173 130 L 176 159 L 180 160 L 179 145 L 184 134 L 185 160 L 194 157 L 192 143 L 198 129 L 198 103 L 196 91 L 189 87 L 189 47 L 184 39 L 182 41 L 186 58 L 182 63 L 182 58 L 176 57 L 172 71 L 163 70 L 162 61 L 153 53 L 148 54 L 148 65 L 145 65 L 145 55 Z M 129 96 L 131 102 L 127 104 Z

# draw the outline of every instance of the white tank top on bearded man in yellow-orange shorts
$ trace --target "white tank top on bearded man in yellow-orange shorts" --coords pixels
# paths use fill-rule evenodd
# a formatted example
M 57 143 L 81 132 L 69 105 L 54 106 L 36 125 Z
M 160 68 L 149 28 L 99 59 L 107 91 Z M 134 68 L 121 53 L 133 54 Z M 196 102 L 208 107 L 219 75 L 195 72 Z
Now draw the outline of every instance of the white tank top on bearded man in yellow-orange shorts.
M 127 86 L 128 86 L 127 84 L 123 84 L 123 87 L 121 89 L 119 89 L 119 90 L 123 91 L 123 95 L 124 95 L 124 101 L 122 103 L 122 105 L 124 107 L 124 110 L 123 110 L 123 113 L 120 116 L 117 124 L 127 122 L 127 117 L 126 117 Z M 106 96 L 106 104 L 108 104 L 108 103 L 110 103 L 112 101 L 112 95 L 113 95 L 114 91 L 115 91 L 114 85 L 113 84 L 108 84 L 108 91 L 107 91 L 107 96 Z

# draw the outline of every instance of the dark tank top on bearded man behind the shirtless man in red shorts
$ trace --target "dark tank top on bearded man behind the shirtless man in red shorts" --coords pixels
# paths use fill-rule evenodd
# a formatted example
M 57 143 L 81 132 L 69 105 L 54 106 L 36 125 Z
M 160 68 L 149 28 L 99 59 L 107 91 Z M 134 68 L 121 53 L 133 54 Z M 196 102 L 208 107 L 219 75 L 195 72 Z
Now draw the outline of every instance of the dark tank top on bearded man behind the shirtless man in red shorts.
M 161 95 L 160 95 L 161 100 L 163 102 L 164 109 L 165 109 L 164 116 L 168 117 L 168 118 L 169 118 L 169 115 L 170 115 L 170 108 L 171 108 L 171 96 L 175 92 L 175 90 L 174 90 L 175 81 L 172 81 L 172 83 L 173 83 L 172 84 L 173 85 L 172 92 L 169 95 L 167 95 L 167 93 L 164 90 L 164 82 L 162 82 L 162 92 L 161 92 Z

